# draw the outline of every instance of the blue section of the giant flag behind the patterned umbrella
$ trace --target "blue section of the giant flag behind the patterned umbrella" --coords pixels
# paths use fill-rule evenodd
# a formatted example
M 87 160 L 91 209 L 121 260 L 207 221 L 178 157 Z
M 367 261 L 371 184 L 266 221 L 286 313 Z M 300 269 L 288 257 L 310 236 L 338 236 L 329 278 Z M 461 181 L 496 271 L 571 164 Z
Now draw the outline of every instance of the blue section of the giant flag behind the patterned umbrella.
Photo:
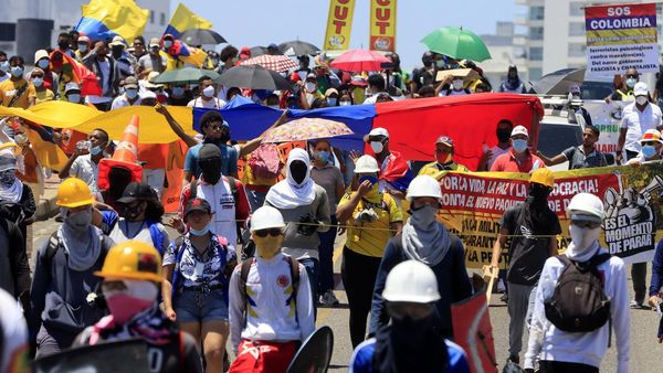
M 193 129 L 200 131 L 199 120 L 207 110 L 193 108 Z M 231 138 L 249 141 L 264 132 L 282 114 L 282 110 L 253 103 L 246 97 L 236 97 L 220 110 L 230 125 Z M 334 106 L 314 110 L 290 110 L 291 118 L 324 118 L 346 124 L 355 134 L 332 139 L 332 146 L 344 150 L 362 150 L 364 136 L 372 128 L 376 116 L 373 105 Z

